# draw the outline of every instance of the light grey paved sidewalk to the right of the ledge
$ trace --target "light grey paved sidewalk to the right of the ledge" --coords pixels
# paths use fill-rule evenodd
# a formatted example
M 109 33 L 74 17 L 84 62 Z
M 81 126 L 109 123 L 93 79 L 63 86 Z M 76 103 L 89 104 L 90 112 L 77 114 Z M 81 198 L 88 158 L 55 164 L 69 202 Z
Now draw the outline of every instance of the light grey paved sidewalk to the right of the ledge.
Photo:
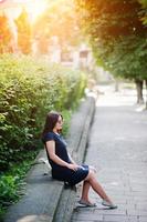
M 128 92 L 105 93 L 97 101 L 85 162 L 118 205 L 106 210 L 75 206 L 71 222 L 147 222 L 147 111 L 138 112 Z

